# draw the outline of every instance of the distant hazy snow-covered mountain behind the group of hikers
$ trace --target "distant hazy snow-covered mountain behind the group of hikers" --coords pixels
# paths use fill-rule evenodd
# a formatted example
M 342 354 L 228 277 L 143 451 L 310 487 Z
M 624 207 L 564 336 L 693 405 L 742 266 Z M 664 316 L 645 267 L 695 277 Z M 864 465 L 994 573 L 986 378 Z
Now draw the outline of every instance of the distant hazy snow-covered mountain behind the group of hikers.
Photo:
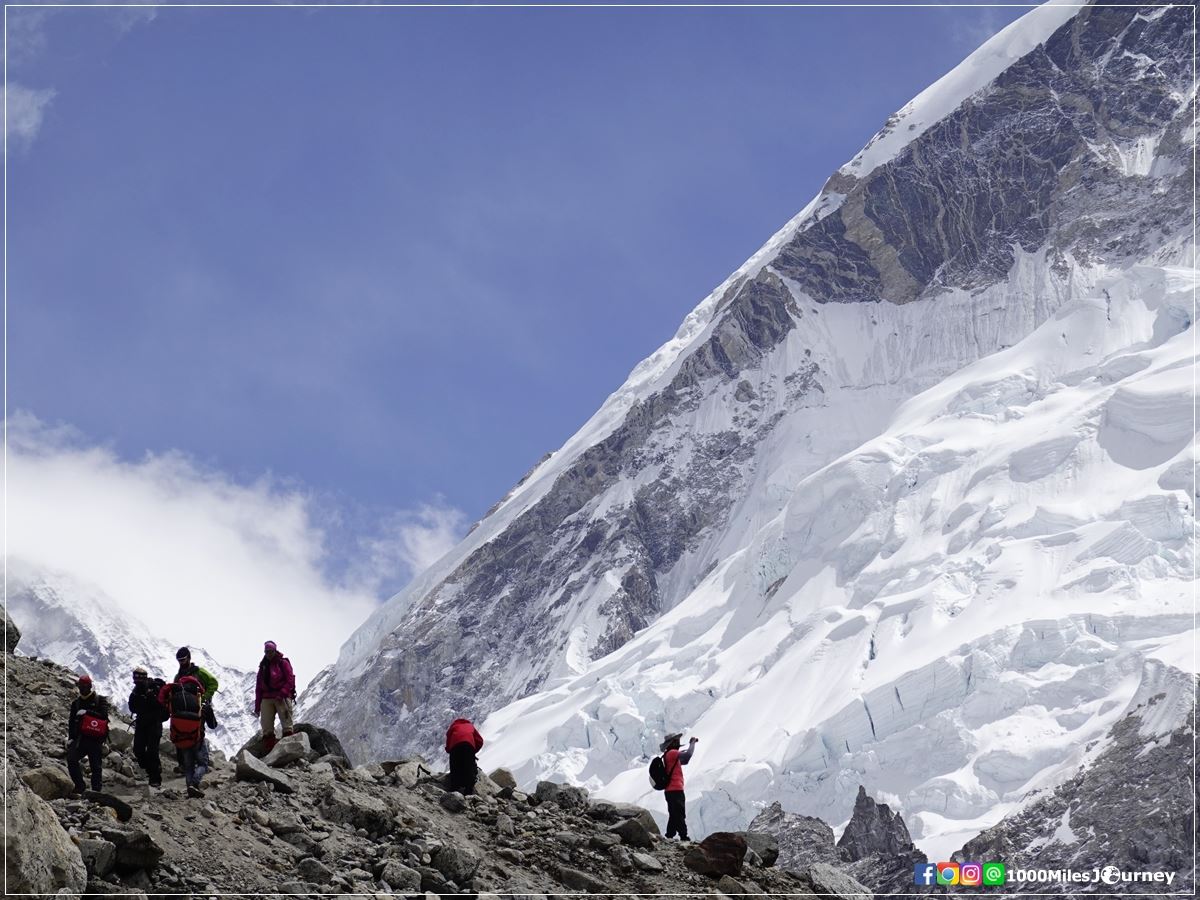
M 180 644 L 152 635 L 95 586 L 11 557 L 5 565 L 7 611 L 20 629 L 18 654 L 53 659 L 80 674 L 86 672 L 100 692 L 125 713 L 134 666 L 145 666 L 151 677 L 167 680 L 178 671 L 175 650 Z M 223 665 L 202 647 L 191 650 L 192 659 L 220 685 L 214 706 L 221 727 L 209 730 L 209 743 L 232 756 L 258 731 L 256 673 Z M 64 710 L 64 724 L 65 716 Z

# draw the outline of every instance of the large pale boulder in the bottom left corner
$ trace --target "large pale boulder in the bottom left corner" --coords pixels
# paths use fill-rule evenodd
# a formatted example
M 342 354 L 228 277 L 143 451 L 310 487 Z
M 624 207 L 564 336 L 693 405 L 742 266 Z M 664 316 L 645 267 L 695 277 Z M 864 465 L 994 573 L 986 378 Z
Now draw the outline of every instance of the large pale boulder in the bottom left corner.
M 12 773 L 5 785 L 4 871 L 11 894 L 83 894 L 83 856 L 46 800 Z

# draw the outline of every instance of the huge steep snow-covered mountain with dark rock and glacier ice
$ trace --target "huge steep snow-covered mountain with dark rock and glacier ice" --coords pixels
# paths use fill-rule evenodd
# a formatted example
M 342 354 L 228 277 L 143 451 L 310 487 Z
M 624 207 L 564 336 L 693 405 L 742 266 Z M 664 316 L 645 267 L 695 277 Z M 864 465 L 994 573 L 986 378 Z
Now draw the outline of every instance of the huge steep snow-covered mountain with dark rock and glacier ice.
M 775 799 L 845 823 L 862 784 L 937 858 L 1093 758 L 1193 665 L 1192 48 L 1188 10 L 1103 4 L 990 40 L 310 715 L 355 758 L 488 716 L 486 766 L 642 802 L 686 730 L 701 833 Z

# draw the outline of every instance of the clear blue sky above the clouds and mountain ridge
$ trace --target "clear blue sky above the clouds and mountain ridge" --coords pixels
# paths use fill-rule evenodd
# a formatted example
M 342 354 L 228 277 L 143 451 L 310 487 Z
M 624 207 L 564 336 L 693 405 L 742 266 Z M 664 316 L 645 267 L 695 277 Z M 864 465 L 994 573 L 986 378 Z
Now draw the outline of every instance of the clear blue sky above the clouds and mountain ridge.
M 8 8 L 10 413 L 452 533 L 1022 12 Z

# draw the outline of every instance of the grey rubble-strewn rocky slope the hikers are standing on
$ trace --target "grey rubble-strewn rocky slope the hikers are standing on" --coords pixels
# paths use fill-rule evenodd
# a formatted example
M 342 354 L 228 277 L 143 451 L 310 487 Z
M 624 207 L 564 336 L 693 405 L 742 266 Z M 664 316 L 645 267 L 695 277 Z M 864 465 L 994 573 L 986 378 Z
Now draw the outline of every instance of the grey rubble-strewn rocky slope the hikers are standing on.
M 871 896 L 830 864 L 832 832 L 820 859 L 787 870 L 767 833 L 678 844 L 644 809 L 551 782 L 523 793 L 503 769 L 463 797 L 419 757 L 352 767 L 311 727 L 263 758 L 254 744 L 233 761 L 214 754 L 205 797 L 187 799 L 167 754 L 163 790 L 145 786 L 128 722 L 114 716 L 104 793 L 73 798 L 64 715 L 74 674 L 10 648 L 5 684 L 12 893 Z

